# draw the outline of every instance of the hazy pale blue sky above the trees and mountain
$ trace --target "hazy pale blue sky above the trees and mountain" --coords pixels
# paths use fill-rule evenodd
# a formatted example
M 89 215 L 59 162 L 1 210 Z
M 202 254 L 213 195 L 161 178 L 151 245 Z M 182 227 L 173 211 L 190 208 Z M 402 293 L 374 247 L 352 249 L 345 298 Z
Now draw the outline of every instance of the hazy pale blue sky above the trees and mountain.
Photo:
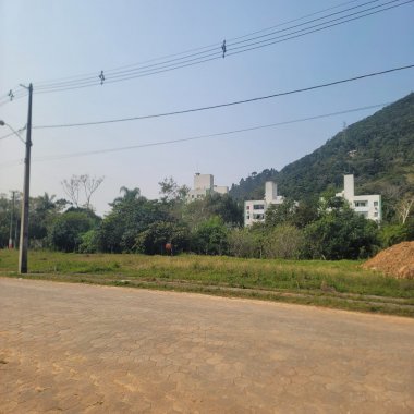
M 268 35 L 344 9 L 360 7 L 348 12 L 352 13 L 389 1 L 361 7 L 368 0 L 0 0 L 0 120 L 15 130 L 26 124 L 27 96 L 22 96 L 25 89 L 19 84 L 33 83 L 35 127 L 214 106 L 413 64 L 414 2 L 402 4 L 403 0 L 393 1 L 388 7 L 401 5 L 382 13 L 231 54 L 236 50 L 232 44 L 238 41 L 232 39 L 240 36 L 273 27 L 251 37 Z M 192 54 L 212 46 L 219 56 L 223 39 L 228 45 L 224 58 L 109 82 L 113 69 L 165 62 L 183 54 L 166 57 L 186 50 L 193 50 Z M 266 37 L 255 41 L 263 39 Z M 107 75 L 100 85 L 102 70 Z M 77 75 L 92 76 L 94 85 L 41 94 L 46 90 L 41 86 Z M 143 195 L 157 198 L 158 183 L 167 176 L 192 186 L 195 172 L 211 173 L 215 184 L 231 186 L 254 171 L 282 169 L 321 146 L 344 123 L 350 125 L 379 108 L 168 145 L 59 156 L 389 104 L 410 94 L 413 84 L 414 69 L 409 69 L 208 111 L 83 127 L 34 129 L 31 196 L 47 192 L 65 197 L 61 182 L 73 174 L 105 176 L 92 199 L 97 212 L 105 214 L 120 187 L 139 187 Z M 20 99 L 7 100 L 10 89 Z M 14 135 L 1 139 L 9 132 L 8 126 L 0 126 L 0 193 L 4 194 L 23 187 L 24 145 Z M 22 135 L 25 138 L 25 132 Z

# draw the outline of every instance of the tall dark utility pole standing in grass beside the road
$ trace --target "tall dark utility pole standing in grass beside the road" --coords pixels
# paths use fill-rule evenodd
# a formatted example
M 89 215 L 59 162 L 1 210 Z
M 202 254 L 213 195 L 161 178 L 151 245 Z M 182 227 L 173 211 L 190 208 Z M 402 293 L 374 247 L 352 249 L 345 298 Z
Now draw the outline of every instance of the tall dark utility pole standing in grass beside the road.
M 27 273 L 27 251 L 28 251 L 28 199 L 31 190 L 31 148 L 32 148 L 32 95 L 33 85 L 28 87 L 28 114 L 26 127 L 26 156 L 24 158 L 24 179 L 23 179 L 23 200 L 22 200 L 22 222 L 20 230 L 19 249 L 19 272 Z

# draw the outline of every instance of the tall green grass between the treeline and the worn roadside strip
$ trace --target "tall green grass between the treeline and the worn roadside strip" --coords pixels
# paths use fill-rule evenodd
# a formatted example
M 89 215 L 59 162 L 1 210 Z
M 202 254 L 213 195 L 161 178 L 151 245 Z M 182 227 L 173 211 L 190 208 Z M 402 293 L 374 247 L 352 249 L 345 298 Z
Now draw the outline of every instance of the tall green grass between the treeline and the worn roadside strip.
M 36 275 L 99 276 L 99 280 L 186 282 L 204 287 L 319 291 L 414 299 L 414 281 L 363 270 L 358 261 L 241 259 L 223 256 L 144 256 L 31 252 Z M 0 251 L 0 275 L 15 275 L 17 253 Z

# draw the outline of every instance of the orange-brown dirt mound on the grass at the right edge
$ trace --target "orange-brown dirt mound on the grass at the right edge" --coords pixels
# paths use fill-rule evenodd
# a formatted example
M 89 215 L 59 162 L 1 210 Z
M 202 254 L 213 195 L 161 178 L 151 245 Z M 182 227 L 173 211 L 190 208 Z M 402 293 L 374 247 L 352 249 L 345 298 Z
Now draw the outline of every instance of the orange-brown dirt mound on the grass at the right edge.
M 373 257 L 364 269 L 382 271 L 401 279 L 414 279 L 414 242 L 395 244 Z

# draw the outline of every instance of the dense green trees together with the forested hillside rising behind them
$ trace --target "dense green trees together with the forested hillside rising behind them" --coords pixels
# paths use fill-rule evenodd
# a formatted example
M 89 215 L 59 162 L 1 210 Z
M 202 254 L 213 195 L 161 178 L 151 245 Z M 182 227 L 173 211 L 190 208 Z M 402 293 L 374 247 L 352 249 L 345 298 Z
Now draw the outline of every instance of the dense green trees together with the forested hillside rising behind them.
M 101 218 L 90 197 L 104 178 L 73 175 L 62 182 L 70 200 L 45 193 L 31 199 L 32 247 L 76 253 L 230 255 L 249 258 L 358 259 L 414 239 L 414 94 L 350 125 L 322 147 L 282 171 L 265 170 L 214 194 L 186 203 L 188 188 L 171 178 L 160 182 L 160 198 L 122 187 Z M 343 173 L 356 176 L 356 191 L 380 193 L 383 221 L 357 216 L 334 188 Z M 243 228 L 243 199 L 263 198 L 264 183 L 276 180 L 287 197 L 266 221 Z M 80 195 L 85 194 L 84 203 Z M 299 203 L 297 203 L 299 202 Z M 68 208 L 69 207 L 69 208 Z M 0 195 L 0 247 L 19 240 L 20 199 Z

